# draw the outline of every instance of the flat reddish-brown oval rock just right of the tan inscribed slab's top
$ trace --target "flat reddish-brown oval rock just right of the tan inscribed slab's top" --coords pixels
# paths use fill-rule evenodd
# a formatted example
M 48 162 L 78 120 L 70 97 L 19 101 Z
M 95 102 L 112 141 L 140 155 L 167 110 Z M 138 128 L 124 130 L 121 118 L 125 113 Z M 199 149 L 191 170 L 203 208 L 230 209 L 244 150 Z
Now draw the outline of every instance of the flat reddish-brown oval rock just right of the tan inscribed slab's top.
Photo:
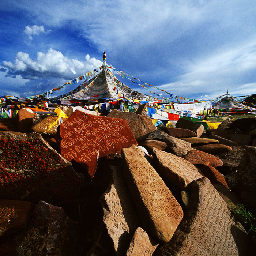
M 199 150 L 188 151 L 187 155 L 184 155 L 184 158 L 193 163 L 193 165 L 201 164 L 214 168 L 223 165 L 223 162 L 218 157 Z

